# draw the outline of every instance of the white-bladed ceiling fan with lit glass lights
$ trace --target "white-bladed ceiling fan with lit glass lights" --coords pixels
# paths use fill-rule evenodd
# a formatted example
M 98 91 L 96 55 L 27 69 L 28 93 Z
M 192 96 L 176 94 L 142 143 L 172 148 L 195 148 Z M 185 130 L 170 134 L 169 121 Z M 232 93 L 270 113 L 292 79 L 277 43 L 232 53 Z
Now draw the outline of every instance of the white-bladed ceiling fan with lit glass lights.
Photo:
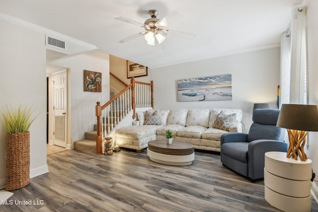
M 169 34 L 170 32 L 172 32 L 171 34 L 174 34 L 175 36 L 188 39 L 188 40 L 195 37 L 194 34 L 166 29 L 168 25 L 184 17 L 184 15 L 181 14 L 180 12 L 174 10 L 161 19 L 157 18 L 158 11 L 155 9 L 149 10 L 149 14 L 151 18 L 145 20 L 144 23 L 140 23 L 138 21 L 134 21 L 129 18 L 125 18 L 121 16 L 115 17 L 116 20 L 134 24 L 134 25 L 143 27 L 145 29 L 145 31 L 143 32 L 139 32 L 134 35 L 121 39 L 120 41 L 118 41 L 118 43 L 126 43 L 127 41 L 133 40 L 135 38 L 138 38 L 144 35 L 145 40 L 147 41 L 147 44 L 155 45 L 155 43 L 157 42 L 160 44 L 165 40 L 164 35 L 167 35 L 168 32 Z

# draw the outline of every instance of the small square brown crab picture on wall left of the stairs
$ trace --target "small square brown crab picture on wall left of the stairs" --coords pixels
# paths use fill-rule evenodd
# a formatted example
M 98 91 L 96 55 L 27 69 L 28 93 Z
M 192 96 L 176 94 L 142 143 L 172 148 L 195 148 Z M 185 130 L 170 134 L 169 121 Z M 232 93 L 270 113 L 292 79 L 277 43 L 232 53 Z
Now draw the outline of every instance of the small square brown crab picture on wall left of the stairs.
M 101 72 L 84 70 L 84 91 L 101 92 Z

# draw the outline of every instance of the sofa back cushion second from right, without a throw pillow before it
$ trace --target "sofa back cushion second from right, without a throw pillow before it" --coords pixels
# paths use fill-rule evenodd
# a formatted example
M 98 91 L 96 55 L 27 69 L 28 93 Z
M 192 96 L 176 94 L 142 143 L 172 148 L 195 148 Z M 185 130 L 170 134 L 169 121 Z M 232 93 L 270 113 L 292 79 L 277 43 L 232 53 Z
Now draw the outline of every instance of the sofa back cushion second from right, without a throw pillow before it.
M 185 126 L 209 126 L 209 109 L 191 109 L 188 111 Z

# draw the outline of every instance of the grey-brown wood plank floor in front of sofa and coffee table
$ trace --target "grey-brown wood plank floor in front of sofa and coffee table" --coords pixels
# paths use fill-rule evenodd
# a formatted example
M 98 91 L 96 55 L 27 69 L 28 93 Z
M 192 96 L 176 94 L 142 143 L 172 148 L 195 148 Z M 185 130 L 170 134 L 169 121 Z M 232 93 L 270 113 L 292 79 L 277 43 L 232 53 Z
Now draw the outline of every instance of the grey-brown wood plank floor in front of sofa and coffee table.
M 189 166 L 162 165 L 146 150 L 129 149 L 66 150 L 48 155 L 47 163 L 50 172 L 13 191 L 7 202 L 13 204 L 1 212 L 279 212 L 264 199 L 263 181 L 251 183 L 210 152 L 196 151 Z M 312 211 L 318 212 L 315 201 Z

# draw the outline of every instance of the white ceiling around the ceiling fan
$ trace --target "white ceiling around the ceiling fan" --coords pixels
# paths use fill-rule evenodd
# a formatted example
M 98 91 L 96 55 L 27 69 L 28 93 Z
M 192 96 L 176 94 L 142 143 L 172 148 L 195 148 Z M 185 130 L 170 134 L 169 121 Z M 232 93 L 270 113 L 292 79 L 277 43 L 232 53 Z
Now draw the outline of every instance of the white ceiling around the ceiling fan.
M 100 51 L 149 68 L 278 47 L 289 27 L 294 4 L 304 0 L 0 0 L 0 12 L 95 45 Z M 158 46 L 143 37 L 118 41 L 144 31 L 115 20 L 143 23 L 172 10 L 184 18 L 167 27 L 195 34 L 192 40 L 167 35 Z M 162 50 L 163 51 L 159 51 Z

